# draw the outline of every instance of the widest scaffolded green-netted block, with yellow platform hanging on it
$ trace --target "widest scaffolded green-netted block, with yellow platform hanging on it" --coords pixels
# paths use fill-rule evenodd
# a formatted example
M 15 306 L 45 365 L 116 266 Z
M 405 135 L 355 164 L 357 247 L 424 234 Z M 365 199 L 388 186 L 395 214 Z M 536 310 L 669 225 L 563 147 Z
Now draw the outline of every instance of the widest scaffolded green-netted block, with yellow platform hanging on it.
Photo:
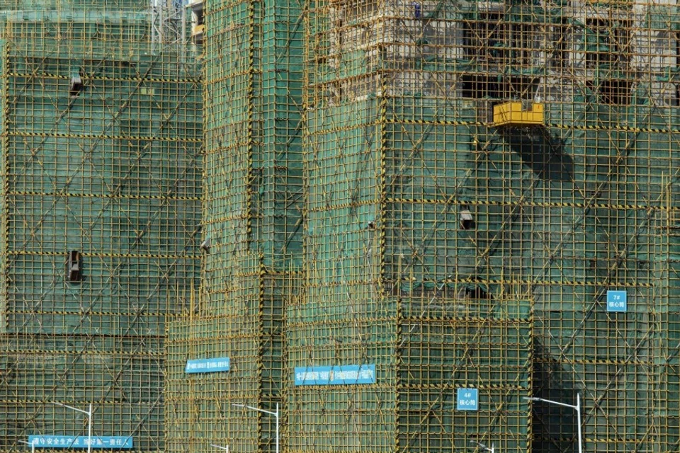
M 305 9 L 305 303 L 288 316 L 290 360 L 375 363 L 378 383 L 295 389 L 291 430 L 305 407 L 336 418 L 318 430 L 301 418 L 291 447 L 462 452 L 470 438 L 507 448 L 519 434 L 564 451 L 577 442 L 574 411 L 535 403 L 532 432 L 521 396 L 575 404 L 579 393 L 586 450 L 673 451 L 675 6 Z M 614 289 L 627 292 L 628 311 L 608 311 Z M 467 356 L 441 336 L 474 331 L 485 306 L 523 301 L 534 306 L 520 317 L 533 326 L 533 384 L 489 404 L 502 428 L 479 416 L 458 432 L 449 388 L 472 384 L 460 369 L 469 376 L 483 360 L 459 365 Z M 293 336 L 296 323 L 304 334 Z M 504 332 L 489 341 L 501 368 L 507 351 L 523 350 Z M 442 350 L 446 366 L 426 365 Z M 512 376 L 497 384 L 515 386 Z

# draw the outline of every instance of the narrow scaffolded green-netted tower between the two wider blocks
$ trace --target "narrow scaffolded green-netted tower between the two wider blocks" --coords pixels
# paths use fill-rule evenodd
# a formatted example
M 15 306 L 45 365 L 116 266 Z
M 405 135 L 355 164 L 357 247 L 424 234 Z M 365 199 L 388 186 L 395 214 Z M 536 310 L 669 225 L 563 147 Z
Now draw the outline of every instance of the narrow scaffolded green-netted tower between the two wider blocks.
M 169 326 L 168 449 L 275 451 L 286 300 L 302 248 L 300 4 L 209 1 L 203 11 L 203 268 L 190 315 Z M 229 357 L 228 373 L 184 372 Z

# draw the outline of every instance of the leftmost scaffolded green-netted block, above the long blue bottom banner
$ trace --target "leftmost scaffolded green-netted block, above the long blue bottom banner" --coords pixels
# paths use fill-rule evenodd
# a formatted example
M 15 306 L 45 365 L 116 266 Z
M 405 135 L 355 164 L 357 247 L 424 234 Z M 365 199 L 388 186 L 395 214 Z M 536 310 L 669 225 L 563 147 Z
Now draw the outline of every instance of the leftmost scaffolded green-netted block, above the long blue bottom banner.
M 165 323 L 200 269 L 200 74 L 152 48 L 140 2 L 48 6 L 3 11 L 0 451 L 87 435 L 54 403 L 91 403 L 93 435 L 162 452 Z

